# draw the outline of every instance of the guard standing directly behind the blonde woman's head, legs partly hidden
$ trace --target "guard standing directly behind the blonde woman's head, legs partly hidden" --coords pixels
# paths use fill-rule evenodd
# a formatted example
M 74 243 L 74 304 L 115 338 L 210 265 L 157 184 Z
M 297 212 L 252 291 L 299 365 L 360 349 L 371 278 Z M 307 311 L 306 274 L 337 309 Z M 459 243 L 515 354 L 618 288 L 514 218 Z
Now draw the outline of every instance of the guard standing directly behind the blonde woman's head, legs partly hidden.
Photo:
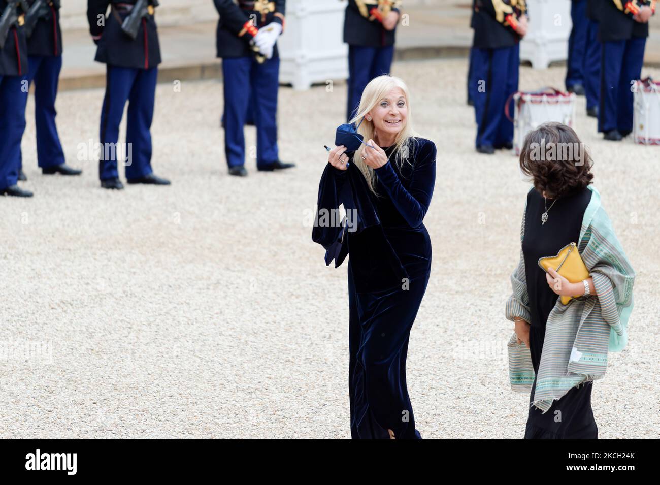
M 389 74 L 401 0 L 348 0 L 344 42 L 348 44 L 348 104 L 352 119 L 366 85 Z

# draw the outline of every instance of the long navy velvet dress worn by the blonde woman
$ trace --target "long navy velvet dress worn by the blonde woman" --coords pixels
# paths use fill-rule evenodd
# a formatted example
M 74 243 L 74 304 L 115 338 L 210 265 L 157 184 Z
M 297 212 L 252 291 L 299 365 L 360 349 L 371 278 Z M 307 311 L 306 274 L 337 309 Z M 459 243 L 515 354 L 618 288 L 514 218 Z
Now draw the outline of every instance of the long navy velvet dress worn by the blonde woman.
M 386 263 L 374 257 L 382 249 L 365 237 L 369 230 L 348 234 L 350 434 L 389 439 L 390 429 L 396 439 L 421 439 L 405 370 L 411 327 L 431 269 L 431 241 L 422 220 L 435 185 L 436 146 L 414 139 L 411 156 L 400 167 L 394 147 L 382 148 L 389 162 L 376 169 L 378 195 L 370 192 L 370 197 L 385 235 L 380 244 L 391 247 L 407 276 L 389 288 L 358 291 L 378 283 L 373 281 L 380 278 L 378 267 Z

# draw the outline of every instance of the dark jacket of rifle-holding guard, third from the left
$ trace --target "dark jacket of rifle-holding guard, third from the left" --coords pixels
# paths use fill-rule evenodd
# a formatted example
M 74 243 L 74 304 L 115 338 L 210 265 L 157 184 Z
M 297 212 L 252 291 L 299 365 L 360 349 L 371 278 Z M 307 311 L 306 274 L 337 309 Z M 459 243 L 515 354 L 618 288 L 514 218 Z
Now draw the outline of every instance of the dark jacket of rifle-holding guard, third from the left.
M 149 69 L 160 64 L 160 45 L 154 15 L 149 14 L 142 19 L 135 40 L 121 30 L 121 22 L 130 13 L 121 4 L 135 3 L 136 0 L 87 0 L 89 31 L 98 44 L 95 61 L 138 69 Z M 108 5 L 111 5 L 111 9 L 106 15 Z M 105 16 L 105 26 L 98 24 L 99 16 Z

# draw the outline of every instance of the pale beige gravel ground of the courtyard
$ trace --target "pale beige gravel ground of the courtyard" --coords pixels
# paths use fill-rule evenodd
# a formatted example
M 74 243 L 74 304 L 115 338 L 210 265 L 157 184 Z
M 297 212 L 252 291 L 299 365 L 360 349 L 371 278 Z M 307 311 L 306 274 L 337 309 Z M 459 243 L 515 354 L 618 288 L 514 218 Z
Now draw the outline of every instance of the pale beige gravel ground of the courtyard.
M 473 150 L 466 72 L 462 59 L 394 68 L 416 129 L 438 145 L 409 392 L 424 438 L 519 438 L 527 395 L 508 386 L 504 302 L 527 185 L 512 154 Z M 563 76 L 523 67 L 521 88 L 561 87 Z M 29 115 L 23 186 L 36 196 L 0 201 L 0 437 L 350 437 L 346 267 L 325 267 L 310 237 L 323 144 L 345 110 L 346 86 L 334 87 L 282 88 L 281 157 L 298 168 L 267 174 L 249 160 L 237 179 L 226 174 L 221 84 L 161 84 L 153 165 L 173 184 L 119 193 L 98 187 L 96 162 L 77 160 L 96 140 L 101 90 L 57 100 L 82 179 L 40 174 Z M 584 108 L 579 98 L 578 133 L 638 272 L 630 344 L 595 384 L 593 409 L 600 437 L 657 438 L 660 147 L 601 141 Z

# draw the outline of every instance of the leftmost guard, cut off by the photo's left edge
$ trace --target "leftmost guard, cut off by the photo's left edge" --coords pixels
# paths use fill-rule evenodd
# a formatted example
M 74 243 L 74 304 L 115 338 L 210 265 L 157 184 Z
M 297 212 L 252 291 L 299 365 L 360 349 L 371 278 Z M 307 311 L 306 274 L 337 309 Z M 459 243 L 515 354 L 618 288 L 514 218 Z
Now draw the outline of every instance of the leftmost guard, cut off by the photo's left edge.
M 0 194 L 15 197 L 32 197 L 16 185 L 28 96 L 22 82 L 29 67 L 22 27 L 27 10 L 25 1 L 0 0 Z

